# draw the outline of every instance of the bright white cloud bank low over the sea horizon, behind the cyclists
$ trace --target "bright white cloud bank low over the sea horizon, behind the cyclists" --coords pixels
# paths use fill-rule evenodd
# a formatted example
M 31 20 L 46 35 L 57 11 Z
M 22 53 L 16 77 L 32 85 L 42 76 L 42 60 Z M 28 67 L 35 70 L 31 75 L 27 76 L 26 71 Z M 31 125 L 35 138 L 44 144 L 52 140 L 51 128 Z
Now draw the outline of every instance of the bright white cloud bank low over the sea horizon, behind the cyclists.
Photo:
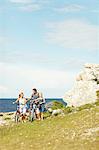
M 0 70 L 2 70 L 0 81 L 3 79 L 3 85 L 6 85 L 9 89 L 6 97 L 16 96 L 20 89 L 24 89 L 28 93 L 27 91 L 30 91 L 33 87 L 44 89 L 46 97 L 62 96 L 64 94 L 62 90 L 66 89 L 74 78 L 73 72 L 33 68 L 9 63 L 2 63 L 0 66 Z M 57 90 L 59 91 L 58 93 Z M 53 94 L 49 95 L 50 91 L 55 93 L 52 92 Z

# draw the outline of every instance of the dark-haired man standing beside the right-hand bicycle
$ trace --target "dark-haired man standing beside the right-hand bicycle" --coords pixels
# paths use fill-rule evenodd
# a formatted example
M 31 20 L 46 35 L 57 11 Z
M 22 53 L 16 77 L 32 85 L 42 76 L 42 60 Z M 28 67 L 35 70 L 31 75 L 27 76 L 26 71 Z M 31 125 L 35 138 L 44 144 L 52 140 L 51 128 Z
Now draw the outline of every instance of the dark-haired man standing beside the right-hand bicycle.
M 36 88 L 32 90 L 33 93 L 30 98 L 30 109 L 34 107 L 36 118 L 38 120 L 43 120 L 45 99 L 43 98 L 42 93 L 38 92 Z

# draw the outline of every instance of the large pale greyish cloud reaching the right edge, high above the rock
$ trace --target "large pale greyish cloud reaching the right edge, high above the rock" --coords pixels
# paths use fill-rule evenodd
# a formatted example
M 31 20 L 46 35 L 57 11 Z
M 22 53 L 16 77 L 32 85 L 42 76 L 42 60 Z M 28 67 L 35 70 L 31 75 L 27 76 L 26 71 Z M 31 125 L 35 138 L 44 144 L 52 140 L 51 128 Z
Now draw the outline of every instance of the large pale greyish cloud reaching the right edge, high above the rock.
M 99 49 L 99 26 L 82 20 L 66 20 L 46 24 L 47 42 L 66 49 Z

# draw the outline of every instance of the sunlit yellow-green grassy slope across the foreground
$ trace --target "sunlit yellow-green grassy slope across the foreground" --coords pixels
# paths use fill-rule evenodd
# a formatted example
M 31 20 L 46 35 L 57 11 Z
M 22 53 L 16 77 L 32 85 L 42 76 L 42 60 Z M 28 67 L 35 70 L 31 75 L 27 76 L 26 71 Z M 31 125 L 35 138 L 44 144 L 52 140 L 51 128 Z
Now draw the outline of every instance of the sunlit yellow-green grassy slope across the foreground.
M 85 107 L 86 108 L 86 107 Z M 98 150 L 99 106 L 0 127 L 0 150 Z

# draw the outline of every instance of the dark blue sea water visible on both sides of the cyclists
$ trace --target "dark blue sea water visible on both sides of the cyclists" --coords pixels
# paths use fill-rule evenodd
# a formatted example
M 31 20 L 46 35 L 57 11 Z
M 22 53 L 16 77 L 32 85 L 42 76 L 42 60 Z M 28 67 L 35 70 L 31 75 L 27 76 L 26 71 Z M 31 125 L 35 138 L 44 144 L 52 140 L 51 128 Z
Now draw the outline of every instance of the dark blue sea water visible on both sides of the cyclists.
M 17 104 L 13 104 L 13 102 L 15 101 L 15 98 L 12 99 L 0 99 L 0 112 L 12 112 L 15 111 L 17 108 Z M 61 98 L 46 98 L 46 103 L 52 102 L 52 101 L 59 101 L 62 102 L 64 105 L 66 105 L 66 103 L 61 99 Z

